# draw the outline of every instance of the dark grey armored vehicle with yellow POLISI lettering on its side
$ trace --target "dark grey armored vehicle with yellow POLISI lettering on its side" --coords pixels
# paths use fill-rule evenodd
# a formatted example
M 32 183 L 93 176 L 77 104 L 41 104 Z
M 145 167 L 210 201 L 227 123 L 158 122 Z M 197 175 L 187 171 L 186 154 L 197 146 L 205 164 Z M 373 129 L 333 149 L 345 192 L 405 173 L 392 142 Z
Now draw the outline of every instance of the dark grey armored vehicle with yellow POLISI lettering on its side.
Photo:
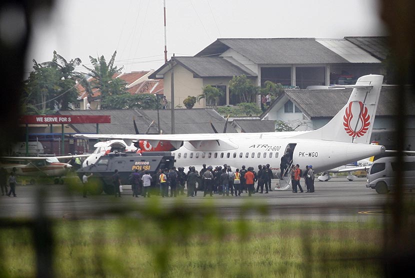
M 91 194 L 100 194 L 102 191 L 112 194 L 115 169 L 118 170 L 121 184 L 130 184 L 128 178 L 135 169 L 153 175 L 158 169 L 171 168 L 173 165 L 174 156 L 170 151 L 146 151 L 141 154 L 115 151 L 102 155 L 95 163 L 78 169 L 76 173 L 81 180 L 84 173 L 93 173 L 88 178 L 88 191 Z

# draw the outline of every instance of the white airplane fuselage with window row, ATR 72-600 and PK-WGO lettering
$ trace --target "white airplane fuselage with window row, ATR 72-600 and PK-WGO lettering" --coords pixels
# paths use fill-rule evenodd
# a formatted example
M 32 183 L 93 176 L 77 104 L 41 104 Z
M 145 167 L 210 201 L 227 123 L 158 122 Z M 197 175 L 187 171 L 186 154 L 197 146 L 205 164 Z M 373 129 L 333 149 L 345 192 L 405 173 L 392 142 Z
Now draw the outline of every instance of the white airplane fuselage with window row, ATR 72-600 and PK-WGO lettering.
M 238 139 L 223 138 L 220 142 L 221 144 L 209 140 L 194 145 L 185 141 L 179 149 L 173 151 L 176 166 L 195 166 L 197 169 L 203 163 L 213 167 L 227 164 L 235 170 L 242 165 L 256 169 L 259 164 L 270 164 L 271 170 L 276 174 L 279 173 L 282 155 L 290 147 L 292 163 L 299 164 L 301 168 L 311 164 L 314 171 L 318 172 L 384 151 L 384 147 L 379 145 L 313 139 L 252 139 L 247 136 Z

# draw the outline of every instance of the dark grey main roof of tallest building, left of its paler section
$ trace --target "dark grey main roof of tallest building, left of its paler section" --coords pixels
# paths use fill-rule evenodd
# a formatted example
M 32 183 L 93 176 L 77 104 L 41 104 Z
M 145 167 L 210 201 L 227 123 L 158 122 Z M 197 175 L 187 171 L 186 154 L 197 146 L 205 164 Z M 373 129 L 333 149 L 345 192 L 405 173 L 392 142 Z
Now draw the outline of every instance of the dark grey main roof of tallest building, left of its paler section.
M 195 56 L 218 54 L 232 48 L 256 64 L 348 63 L 315 38 L 218 38 L 216 41 Z

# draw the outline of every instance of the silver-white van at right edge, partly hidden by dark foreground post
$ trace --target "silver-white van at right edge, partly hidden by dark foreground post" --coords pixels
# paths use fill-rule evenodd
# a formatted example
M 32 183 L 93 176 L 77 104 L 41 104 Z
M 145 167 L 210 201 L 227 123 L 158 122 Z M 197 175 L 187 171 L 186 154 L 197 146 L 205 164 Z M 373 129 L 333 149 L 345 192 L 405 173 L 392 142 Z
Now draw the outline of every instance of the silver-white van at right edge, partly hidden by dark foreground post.
M 404 189 L 415 189 L 415 156 L 403 156 L 403 165 L 397 164 L 397 157 L 382 157 L 370 166 L 367 173 L 366 187 L 385 194 L 396 185 L 395 174 L 400 167 Z

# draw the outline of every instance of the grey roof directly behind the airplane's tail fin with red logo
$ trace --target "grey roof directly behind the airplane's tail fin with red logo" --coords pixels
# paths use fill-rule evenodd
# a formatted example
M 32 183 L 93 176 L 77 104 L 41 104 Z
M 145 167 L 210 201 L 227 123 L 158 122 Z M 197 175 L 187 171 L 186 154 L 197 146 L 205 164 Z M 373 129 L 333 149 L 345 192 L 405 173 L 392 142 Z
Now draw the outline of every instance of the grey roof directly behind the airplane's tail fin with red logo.
M 346 103 L 352 89 L 286 89 L 284 94 L 294 102 L 309 118 L 332 117 Z M 281 99 L 281 98 L 279 98 Z M 408 98 L 406 111 L 408 115 L 415 115 L 415 100 Z M 273 103 L 275 104 L 275 103 Z M 393 116 L 400 104 L 396 101 L 396 88 L 383 87 L 380 90 L 376 116 Z M 271 104 L 271 106 L 273 106 Z M 266 112 L 266 111 L 265 111 Z

